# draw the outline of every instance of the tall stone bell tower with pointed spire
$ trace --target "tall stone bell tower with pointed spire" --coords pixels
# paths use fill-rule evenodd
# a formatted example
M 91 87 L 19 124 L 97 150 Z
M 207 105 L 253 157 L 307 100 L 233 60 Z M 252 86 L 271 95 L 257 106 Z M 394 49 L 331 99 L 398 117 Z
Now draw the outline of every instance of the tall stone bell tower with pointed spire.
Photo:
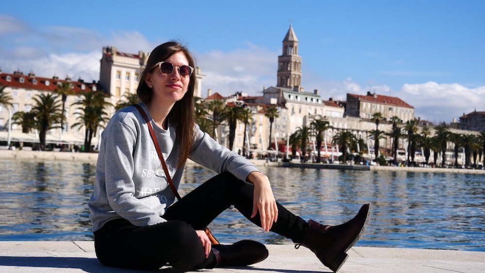
M 278 80 L 276 86 L 300 90 L 302 57 L 298 56 L 298 38 L 290 25 L 283 39 L 283 54 L 278 56 Z

